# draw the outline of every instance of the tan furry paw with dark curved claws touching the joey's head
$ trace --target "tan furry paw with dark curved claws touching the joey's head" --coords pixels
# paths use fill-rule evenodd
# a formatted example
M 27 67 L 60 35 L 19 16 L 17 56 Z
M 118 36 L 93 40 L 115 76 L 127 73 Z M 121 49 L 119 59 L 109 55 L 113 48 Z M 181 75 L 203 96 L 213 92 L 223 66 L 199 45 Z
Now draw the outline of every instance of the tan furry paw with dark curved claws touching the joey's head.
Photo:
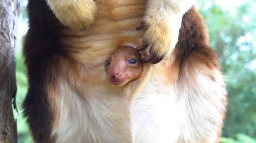
M 143 63 L 157 64 L 164 59 L 174 49 L 179 35 L 179 28 L 181 26 L 181 19 L 177 22 L 170 22 L 170 20 L 154 20 L 148 18 L 140 23 L 136 30 L 146 28 L 143 37 L 143 45 L 137 47 L 137 51 L 150 48 L 150 55 L 142 59 Z

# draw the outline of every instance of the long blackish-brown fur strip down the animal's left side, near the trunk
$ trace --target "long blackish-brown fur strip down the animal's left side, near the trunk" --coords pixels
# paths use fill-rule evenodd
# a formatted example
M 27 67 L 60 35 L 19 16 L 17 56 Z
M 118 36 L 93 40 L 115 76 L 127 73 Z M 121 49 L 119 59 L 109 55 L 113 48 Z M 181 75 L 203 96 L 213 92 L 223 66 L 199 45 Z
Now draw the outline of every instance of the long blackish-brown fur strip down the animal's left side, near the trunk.
M 24 116 L 35 142 L 55 142 L 50 137 L 55 113 L 47 96 L 47 85 L 54 78 L 50 73 L 59 54 L 65 54 L 59 42 L 62 25 L 46 1 L 28 3 L 29 30 L 25 38 L 24 56 L 27 65 L 29 90 L 23 103 Z

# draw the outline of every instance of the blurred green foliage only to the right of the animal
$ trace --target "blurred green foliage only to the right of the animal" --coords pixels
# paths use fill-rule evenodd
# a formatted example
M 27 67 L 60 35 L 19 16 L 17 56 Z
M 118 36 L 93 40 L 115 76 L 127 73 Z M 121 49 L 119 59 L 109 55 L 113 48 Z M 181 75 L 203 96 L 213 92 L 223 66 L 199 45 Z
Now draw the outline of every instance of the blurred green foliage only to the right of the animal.
M 245 1 L 236 10 L 209 3 L 208 9 L 199 9 L 226 78 L 229 100 L 223 135 L 256 136 L 256 2 Z

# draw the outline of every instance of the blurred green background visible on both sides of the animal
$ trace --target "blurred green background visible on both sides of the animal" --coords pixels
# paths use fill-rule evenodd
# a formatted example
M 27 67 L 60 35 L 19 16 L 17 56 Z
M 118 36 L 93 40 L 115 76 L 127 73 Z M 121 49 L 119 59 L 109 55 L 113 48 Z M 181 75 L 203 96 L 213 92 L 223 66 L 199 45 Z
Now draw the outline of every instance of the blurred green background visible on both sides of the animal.
M 22 101 L 27 92 L 27 77 L 22 56 L 26 34 L 27 1 L 18 23 L 17 39 L 17 119 L 18 142 L 33 142 L 22 116 Z M 210 45 L 218 55 L 226 78 L 228 107 L 222 143 L 256 143 L 256 1 L 197 2 L 208 27 Z

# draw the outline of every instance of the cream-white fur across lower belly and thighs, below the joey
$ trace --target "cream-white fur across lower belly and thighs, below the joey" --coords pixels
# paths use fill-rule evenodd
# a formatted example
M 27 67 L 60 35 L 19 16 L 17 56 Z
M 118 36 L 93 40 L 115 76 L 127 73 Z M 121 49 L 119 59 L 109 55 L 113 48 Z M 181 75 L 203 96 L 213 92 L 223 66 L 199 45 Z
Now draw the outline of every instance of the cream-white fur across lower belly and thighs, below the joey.
M 158 66 L 147 68 L 139 92 L 130 91 L 130 86 L 113 90 L 104 84 L 84 84 L 86 94 L 79 95 L 60 80 L 60 116 L 52 135 L 57 142 L 78 143 L 217 142 L 226 100 L 219 71 L 217 81 L 197 71 L 193 85 L 181 77 L 175 87 L 165 84 Z

